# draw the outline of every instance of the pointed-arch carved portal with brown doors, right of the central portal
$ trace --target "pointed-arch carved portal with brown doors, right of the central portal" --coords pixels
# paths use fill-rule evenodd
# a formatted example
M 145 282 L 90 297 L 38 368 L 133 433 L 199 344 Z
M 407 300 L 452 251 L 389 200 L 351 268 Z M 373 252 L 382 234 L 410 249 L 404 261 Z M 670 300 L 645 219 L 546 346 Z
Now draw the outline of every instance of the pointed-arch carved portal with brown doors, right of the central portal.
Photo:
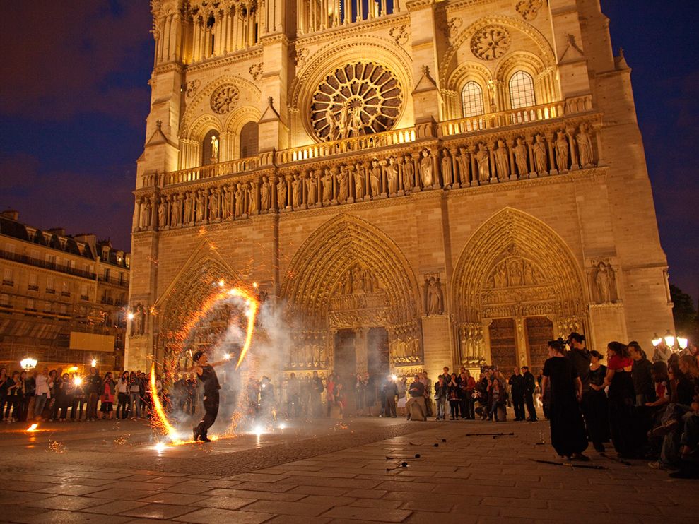
M 452 280 L 462 362 L 503 367 L 546 359 L 546 340 L 585 326 L 580 267 L 548 225 L 505 208 L 476 230 Z

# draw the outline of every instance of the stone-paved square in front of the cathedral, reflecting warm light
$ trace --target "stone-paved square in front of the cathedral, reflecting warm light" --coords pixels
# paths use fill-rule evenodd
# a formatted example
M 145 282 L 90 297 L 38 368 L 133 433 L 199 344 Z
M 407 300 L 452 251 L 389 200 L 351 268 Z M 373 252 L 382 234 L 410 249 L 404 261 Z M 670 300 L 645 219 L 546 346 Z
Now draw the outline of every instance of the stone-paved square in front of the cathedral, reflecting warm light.
M 589 450 L 589 464 L 604 469 L 534 462 L 560 462 L 547 422 L 305 421 L 286 435 L 162 453 L 146 443 L 147 427 L 131 429 L 135 443 L 101 451 L 69 438 L 94 440 L 98 425 L 64 430 L 65 453 L 0 434 L 0 520 L 619 524 L 687 522 L 699 512 L 699 484 L 640 460 Z

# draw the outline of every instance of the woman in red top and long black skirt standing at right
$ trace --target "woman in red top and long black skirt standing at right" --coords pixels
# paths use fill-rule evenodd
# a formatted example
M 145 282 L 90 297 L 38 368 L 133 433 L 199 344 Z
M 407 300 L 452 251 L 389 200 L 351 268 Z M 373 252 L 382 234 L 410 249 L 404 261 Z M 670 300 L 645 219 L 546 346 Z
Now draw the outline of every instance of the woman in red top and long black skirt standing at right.
M 628 347 L 621 342 L 607 345 L 607 372 L 601 386 L 590 386 L 599 391 L 609 386 L 609 432 L 614 449 L 621 457 L 633 458 L 639 445 L 639 434 L 633 405 L 635 392 L 631 379 L 631 359 Z

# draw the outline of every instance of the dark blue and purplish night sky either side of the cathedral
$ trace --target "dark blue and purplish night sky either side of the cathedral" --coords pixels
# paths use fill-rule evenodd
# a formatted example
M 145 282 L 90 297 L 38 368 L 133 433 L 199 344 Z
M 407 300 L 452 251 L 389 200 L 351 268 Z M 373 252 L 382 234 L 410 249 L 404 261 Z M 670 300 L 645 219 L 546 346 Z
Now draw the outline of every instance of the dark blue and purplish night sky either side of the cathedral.
M 670 280 L 697 299 L 699 2 L 602 8 L 633 69 Z M 4 1 L 0 16 L 0 208 L 129 249 L 153 65 L 148 1 Z

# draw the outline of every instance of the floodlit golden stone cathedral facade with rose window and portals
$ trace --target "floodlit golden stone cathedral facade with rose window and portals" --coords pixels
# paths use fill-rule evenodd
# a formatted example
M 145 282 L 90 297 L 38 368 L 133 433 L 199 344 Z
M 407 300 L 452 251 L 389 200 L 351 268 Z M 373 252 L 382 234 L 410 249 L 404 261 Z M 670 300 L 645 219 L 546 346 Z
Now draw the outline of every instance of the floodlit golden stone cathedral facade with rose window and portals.
M 286 371 L 529 364 L 671 327 L 599 0 L 151 0 L 127 367 L 256 282 Z M 211 344 L 220 311 L 191 335 Z

